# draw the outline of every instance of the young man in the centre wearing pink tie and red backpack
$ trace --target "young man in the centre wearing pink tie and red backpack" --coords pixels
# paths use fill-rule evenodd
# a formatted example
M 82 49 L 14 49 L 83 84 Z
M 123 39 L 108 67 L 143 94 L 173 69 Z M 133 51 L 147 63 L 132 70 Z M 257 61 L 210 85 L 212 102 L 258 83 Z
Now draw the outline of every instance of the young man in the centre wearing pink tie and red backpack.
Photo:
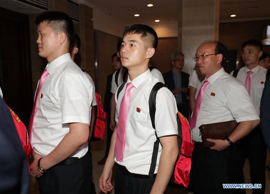
M 99 179 L 101 191 L 112 190 L 112 168 L 118 164 L 115 193 L 164 193 L 178 155 L 176 101 L 166 87 L 157 93 L 155 126 L 149 115 L 149 95 L 158 78 L 148 69 L 158 37 L 146 25 L 132 25 L 124 32 L 120 51 L 122 65 L 128 69 L 128 81 L 116 97 L 116 128 L 109 155 Z M 117 93 L 117 91 L 116 91 Z M 155 182 L 148 173 L 156 135 L 160 139 Z M 115 156 L 115 158 L 114 158 Z

